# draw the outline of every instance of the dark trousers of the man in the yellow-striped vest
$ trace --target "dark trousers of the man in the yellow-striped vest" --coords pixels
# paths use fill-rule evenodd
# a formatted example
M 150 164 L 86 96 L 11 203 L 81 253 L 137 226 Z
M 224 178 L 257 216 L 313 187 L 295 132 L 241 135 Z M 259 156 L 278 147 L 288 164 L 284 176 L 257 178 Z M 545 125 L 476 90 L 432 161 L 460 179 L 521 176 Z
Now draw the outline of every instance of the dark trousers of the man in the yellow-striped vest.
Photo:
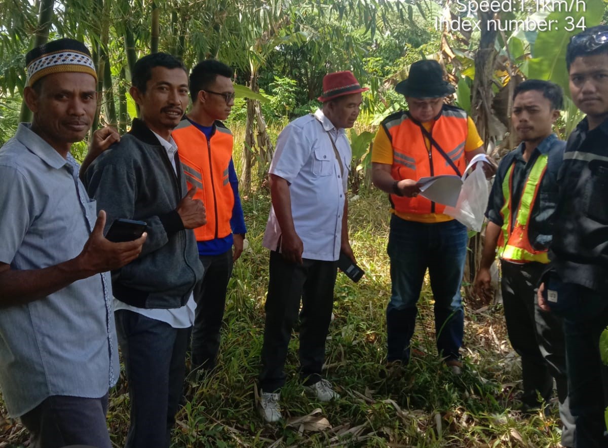
M 553 379 L 558 389 L 559 415 L 564 427 L 562 445 L 575 446 L 575 418 L 568 406 L 568 377 L 562 319 L 542 311 L 536 291 L 546 269 L 542 263 L 501 262 L 502 298 L 506 329 L 514 350 L 522 358 L 523 398 L 529 408 L 553 396 Z

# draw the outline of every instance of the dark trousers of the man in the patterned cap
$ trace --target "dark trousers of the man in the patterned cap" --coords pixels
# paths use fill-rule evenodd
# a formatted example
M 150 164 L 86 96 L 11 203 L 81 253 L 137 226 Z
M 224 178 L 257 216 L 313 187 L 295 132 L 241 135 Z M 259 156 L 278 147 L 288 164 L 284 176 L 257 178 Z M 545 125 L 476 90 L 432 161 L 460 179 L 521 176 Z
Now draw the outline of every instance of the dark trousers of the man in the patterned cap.
M 32 448 L 86 445 L 111 448 L 106 426 L 108 395 L 102 398 L 50 396 L 21 416 Z

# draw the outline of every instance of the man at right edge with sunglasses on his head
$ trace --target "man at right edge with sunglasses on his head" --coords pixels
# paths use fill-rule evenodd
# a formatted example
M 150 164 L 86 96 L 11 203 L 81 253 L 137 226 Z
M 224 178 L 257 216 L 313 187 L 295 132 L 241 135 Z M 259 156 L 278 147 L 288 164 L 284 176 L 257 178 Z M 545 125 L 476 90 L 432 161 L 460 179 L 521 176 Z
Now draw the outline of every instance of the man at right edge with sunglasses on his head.
M 570 135 L 558 174 L 550 269 L 539 306 L 564 318 L 570 410 L 577 447 L 608 446 L 608 26 L 573 36 L 570 94 L 587 116 Z M 603 388 L 603 393 L 601 390 Z

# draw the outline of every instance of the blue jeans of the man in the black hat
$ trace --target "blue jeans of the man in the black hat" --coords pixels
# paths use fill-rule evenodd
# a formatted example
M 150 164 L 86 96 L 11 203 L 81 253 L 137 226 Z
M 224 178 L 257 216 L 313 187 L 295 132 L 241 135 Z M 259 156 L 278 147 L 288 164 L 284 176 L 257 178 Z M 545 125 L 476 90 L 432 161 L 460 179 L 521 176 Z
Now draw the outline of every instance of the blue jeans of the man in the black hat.
M 449 360 L 460 356 L 465 319 L 460 284 L 467 243 L 466 227 L 455 219 L 424 223 L 392 216 L 387 247 L 392 282 L 386 309 L 389 362 L 409 362 L 416 303 L 427 268 L 435 299 L 437 350 Z

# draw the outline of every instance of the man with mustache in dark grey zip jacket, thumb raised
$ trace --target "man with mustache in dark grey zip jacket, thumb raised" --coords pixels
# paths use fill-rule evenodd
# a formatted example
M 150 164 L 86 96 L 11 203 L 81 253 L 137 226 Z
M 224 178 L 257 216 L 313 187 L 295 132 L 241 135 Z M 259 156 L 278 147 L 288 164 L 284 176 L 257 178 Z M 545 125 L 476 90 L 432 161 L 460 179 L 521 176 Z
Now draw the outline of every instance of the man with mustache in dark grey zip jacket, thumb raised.
M 141 58 L 130 93 L 140 119 L 85 173 L 89 194 L 108 216 L 147 222 L 142 257 L 112 273 L 119 344 L 131 402 L 127 448 L 168 448 L 194 320 L 192 291 L 201 280 L 191 229 L 205 208 L 187 191 L 171 131 L 188 104 L 188 76 L 166 53 Z

